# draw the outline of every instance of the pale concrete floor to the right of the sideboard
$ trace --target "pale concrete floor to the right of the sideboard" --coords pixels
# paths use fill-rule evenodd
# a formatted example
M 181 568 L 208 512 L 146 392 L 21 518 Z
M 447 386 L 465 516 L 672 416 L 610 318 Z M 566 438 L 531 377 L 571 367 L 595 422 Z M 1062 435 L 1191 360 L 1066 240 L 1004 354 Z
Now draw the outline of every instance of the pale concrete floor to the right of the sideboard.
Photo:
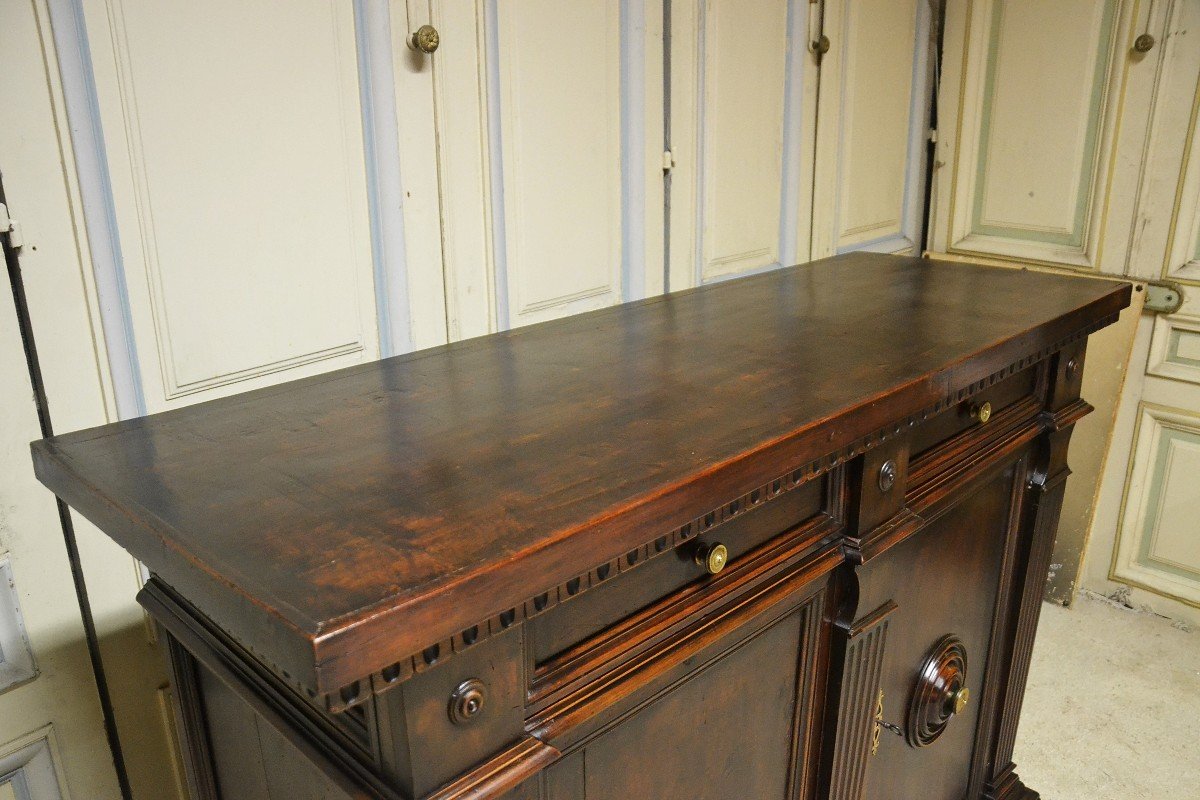
M 1200 798 L 1200 631 L 1044 604 L 1013 760 L 1044 800 Z

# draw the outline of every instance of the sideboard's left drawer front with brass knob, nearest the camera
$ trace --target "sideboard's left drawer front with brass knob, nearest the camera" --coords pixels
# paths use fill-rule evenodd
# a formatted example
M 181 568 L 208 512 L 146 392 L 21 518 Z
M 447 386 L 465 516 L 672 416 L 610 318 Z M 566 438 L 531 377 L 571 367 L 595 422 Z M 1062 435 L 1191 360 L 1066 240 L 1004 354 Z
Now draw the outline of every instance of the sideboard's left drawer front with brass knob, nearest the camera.
M 553 660 L 559 654 L 584 639 L 626 619 L 631 614 L 655 603 L 679 589 L 695 583 L 724 579 L 728 572 L 709 576 L 703 566 L 697 564 L 696 555 L 702 548 L 721 543 L 728 552 L 728 564 L 736 565 L 746 553 L 750 553 L 772 539 L 821 517 L 827 509 L 828 476 L 809 481 L 784 493 L 770 503 L 757 509 L 743 511 L 739 516 L 706 533 L 685 531 L 684 541 L 670 547 L 668 537 L 660 539 L 642 555 L 637 551 L 623 557 L 646 558 L 646 563 L 628 571 L 616 570 L 605 577 L 599 571 L 589 576 L 592 588 L 568 602 L 546 610 L 529 620 L 529 650 L 536 675 L 538 668 Z M 690 533 L 691 537 L 686 539 Z M 664 552 L 655 553 L 656 548 Z M 596 584 L 596 578 L 601 583 Z M 581 578 L 587 579 L 587 577 Z M 566 587 L 565 596 L 571 590 Z

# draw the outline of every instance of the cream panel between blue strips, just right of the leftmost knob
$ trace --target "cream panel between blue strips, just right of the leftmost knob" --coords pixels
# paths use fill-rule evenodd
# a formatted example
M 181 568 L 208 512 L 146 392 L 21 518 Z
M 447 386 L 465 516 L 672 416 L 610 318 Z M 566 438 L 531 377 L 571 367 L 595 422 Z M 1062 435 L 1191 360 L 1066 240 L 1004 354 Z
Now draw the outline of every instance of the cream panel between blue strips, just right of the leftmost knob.
M 499 4 L 510 323 L 620 299 L 620 6 Z

